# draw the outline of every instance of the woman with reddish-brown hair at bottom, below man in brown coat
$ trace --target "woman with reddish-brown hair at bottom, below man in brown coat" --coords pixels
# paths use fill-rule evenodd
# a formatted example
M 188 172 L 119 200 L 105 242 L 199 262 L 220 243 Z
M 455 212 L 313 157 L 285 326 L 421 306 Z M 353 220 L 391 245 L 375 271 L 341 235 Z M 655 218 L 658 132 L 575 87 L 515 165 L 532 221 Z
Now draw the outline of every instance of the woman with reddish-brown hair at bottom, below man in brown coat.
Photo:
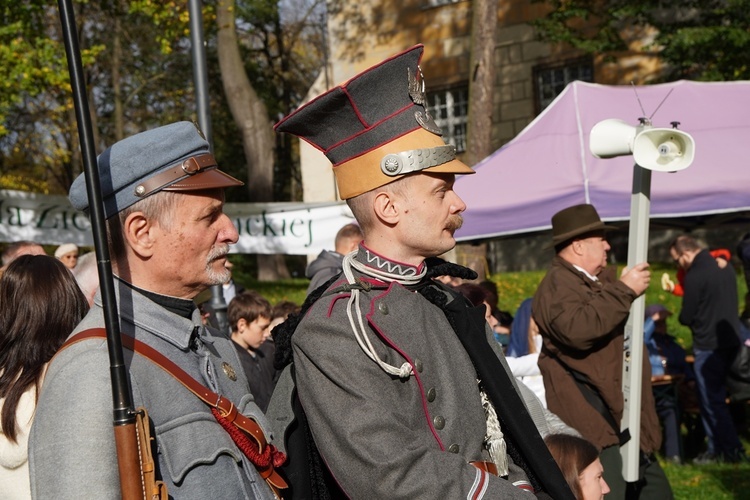
M 602 500 L 609 493 L 596 446 L 570 434 L 550 434 L 544 442 L 576 500 Z

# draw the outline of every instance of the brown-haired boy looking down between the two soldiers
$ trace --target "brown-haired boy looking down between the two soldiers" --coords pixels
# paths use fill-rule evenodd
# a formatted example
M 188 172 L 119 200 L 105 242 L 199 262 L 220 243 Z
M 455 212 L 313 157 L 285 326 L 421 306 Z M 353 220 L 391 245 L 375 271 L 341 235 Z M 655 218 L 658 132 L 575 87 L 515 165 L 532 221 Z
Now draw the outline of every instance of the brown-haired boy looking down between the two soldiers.
M 274 386 L 273 357 L 260 349 L 266 339 L 271 315 L 271 304 L 253 290 L 235 296 L 227 309 L 234 347 L 239 352 L 255 403 L 263 412 L 268 407 Z

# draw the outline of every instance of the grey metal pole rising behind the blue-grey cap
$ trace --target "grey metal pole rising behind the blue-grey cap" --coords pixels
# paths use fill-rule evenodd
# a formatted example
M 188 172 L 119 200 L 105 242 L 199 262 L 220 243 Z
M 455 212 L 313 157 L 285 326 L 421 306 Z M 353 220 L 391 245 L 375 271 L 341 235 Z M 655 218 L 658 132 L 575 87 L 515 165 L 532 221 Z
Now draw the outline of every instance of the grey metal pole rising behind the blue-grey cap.
M 213 151 L 213 131 L 211 129 L 211 109 L 208 96 L 208 70 L 206 64 L 206 47 L 203 40 L 203 13 L 201 1 L 190 0 L 190 41 L 192 43 L 193 81 L 195 84 L 195 105 L 198 113 L 198 126 Z M 217 326 L 223 333 L 229 333 L 227 321 L 227 303 L 221 285 L 211 287 L 211 309 L 216 318 Z

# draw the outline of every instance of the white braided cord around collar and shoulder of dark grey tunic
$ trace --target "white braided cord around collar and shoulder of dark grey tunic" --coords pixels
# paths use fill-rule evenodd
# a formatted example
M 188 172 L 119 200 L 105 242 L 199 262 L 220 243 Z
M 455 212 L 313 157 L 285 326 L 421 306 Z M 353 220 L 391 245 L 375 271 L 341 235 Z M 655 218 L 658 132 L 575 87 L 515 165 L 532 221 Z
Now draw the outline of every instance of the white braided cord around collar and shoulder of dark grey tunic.
M 363 263 L 354 259 L 356 255 L 357 250 L 344 256 L 344 276 L 346 277 L 346 281 L 350 285 L 354 285 L 357 282 L 357 279 L 354 277 L 352 268 L 356 269 L 362 274 L 371 276 L 386 283 L 392 283 L 395 281 L 405 286 L 416 285 L 417 283 L 422 281 L 422 278 L 424 278 L 425 274 L 427 273 L 426 266 L 424 269 L 422 269 L 422 272 L 410 277 L 405 277 L 395 273 L 389 273 L 381 269 L 376 269 L 374 267 L 368 267 L 364 265 Z M 397 368 L 380 359 L 377 352 L 375 352 L 375 348 L 372 346 L 372 342 L 370 342 L 370 338 L 367 336 L 367 329 L 365 328 L 364 321 L 362 320 L 362 310 L 359 308 L 359 292 L 359 288 L 352 288 L 352 294 L 351 297 L 349 297 L 349 302 L 346 306 L 346 315 L 349 317 L 349 324 L 352 327 L 352 331 L 354 332 L 354 336 L 357 339 L 359 347 L 367 355 L 367 357 L 377 363 L 384 372 L 388 373 L 389 375 L 396 375 L 397 377 L 404 380 L 408 379 L 412 374 L 412 368 L 408 362 L 404 361 L 404 364 L 402 364 L 400 368 Z M 356 311 L 356 318 L 354 317 L 354 311 Z

